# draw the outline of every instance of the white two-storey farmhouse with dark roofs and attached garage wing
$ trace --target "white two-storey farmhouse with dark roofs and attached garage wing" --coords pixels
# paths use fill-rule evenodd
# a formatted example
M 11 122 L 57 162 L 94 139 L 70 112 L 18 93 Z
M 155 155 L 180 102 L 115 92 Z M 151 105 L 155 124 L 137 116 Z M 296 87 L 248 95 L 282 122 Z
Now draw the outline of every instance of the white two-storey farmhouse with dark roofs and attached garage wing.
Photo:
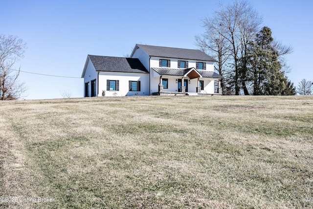
M 84 95 L 221 94 L 214 62 L 201 50 L 139 44 L 130 58 L 88 55 Z

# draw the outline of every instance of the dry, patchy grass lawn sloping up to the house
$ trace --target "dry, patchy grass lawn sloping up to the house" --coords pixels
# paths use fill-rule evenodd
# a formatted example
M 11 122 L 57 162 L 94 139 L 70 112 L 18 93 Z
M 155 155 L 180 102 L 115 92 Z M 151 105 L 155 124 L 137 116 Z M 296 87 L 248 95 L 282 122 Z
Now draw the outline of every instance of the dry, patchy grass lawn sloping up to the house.
M 312 96 L 0 102 L 0 208 L 313 208 Z

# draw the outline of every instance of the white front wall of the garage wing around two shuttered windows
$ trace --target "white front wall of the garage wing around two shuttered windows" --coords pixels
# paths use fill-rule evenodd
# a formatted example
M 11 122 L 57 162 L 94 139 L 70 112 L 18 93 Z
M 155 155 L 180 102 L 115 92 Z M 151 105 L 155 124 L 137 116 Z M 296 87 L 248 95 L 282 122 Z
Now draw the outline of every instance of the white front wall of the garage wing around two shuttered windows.
M 118 80 L 119 91 L 107 91 L 107 80 Z M 140 81 L 140 92 L 129 91 L 129 81 Z M 100 72 L 99 73 L 99 93 L 102 96 L 102 91 L 106 91 L 105 96 L 133 96 L 149 95 L 149 74 L 148 73 L 127 73 L 127 72 Z

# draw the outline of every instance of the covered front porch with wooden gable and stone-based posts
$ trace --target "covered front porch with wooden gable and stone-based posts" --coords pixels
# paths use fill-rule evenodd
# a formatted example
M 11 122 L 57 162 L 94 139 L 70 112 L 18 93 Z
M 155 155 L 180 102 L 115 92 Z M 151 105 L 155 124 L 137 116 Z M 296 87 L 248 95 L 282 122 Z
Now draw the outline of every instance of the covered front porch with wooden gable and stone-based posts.
M 158 91 L 153 95 L 221 95 L 219 74 L 206 70 L 153 68 Z M 154 82 L 156 84 L 156 82 Z

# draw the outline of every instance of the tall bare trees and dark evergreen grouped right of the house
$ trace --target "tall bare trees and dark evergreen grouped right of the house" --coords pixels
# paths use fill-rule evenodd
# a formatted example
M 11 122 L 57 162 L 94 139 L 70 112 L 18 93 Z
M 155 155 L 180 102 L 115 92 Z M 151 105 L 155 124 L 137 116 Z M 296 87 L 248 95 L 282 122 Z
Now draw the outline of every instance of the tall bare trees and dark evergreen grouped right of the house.
M 269 27 L 260 27 L 262 22 L 245 0 L 220 4 L 212 17 L 201 20 L 205 32 L 195 37 L 196 45 L 217 60 L 224 95 L 296 94 L 286 76 L 285 55 L 293 49 L 274 40 Z

